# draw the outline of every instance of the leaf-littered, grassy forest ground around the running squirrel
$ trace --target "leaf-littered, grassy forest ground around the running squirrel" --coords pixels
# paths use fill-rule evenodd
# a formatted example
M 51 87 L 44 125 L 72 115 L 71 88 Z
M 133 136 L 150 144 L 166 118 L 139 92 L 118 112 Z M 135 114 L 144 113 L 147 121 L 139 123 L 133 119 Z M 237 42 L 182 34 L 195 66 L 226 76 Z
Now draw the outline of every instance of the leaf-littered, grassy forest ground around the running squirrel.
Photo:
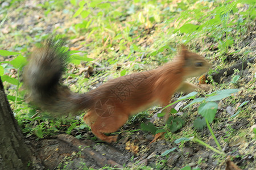
M 82 122 L 82 114 L 75 118 L 48 116 L 23 100 L 27 96 L 22 84 L 4 79 L 26 141 L 37 159 L 42 160 L 35 168 L 225 169 L 230 163 L 228 159 L 241 169 L 256 168 L 252 128 L 256 124 L 253 1 L 83 2 L 0 2 L 0 49 L 27 57 L 36 43 L 52 33 L 62 33 L 69 50 L 79 50 L 79 55 L 68 65 L 63 83 L 72 91 L 82 93 L 109 79 L 163 65 L 175 56 L 180 44 L 186 44 L 212 65 L 207 73 L 207 88 L 197 91 L 197 97 L 206 97 L 216 90 L 238 89 L 236 94 L 216 101 L 217 113 L 210 124 L 225 155 L 193 139 L 175 142 L 182 137 L 196 137 L 217 148 L 207 127 L 201 130 L 194 127 L 199 104 L 181 109 L 191 100 L 179 102 L 175 117 L 182 118 L 185 124 L 175 132 L 168 130 L 157 116 L 161 107 L 156 106 L 131 117 L 114 133 L 118 142 L 109 144 L 94 137 Z M 0 61 L 15 57 L 0 55 Z M 250 62 L 243 65 L 246 61 Z M 19 67 L 6 63 L 2 67 L 1 77 L 6 78 L 2 76 L 5 74 L 22 80 Z M 189 81 L 198 83 L 198 78 Z M 172 101 L 179 97 L 176 94 Z M 151 143 L 154 135 L 142 128 L 142 122 L 152 122 L 167 131 Z

